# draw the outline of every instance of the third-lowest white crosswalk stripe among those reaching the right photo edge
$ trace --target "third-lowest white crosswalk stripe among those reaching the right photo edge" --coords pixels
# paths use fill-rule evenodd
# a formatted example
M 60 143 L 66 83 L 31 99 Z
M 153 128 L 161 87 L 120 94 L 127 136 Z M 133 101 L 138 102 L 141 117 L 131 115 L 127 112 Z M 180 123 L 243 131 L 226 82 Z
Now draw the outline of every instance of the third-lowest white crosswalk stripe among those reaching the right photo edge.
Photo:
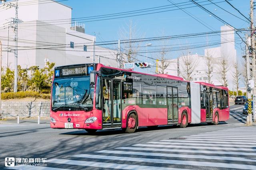
M 119 147 L 115 149 L 126 150 L 149 150 L 149 151 L 164 151 L 164 152 L 182 152 L 182 153 L 199 153 L 199 154 L 228 154 L 228 155 L 244 155 L 256 156 L 256 153 L 250 152 L 226 152 L 226 151 L 212 151 L 212 150 L 185 150 L 185 149 L 166 149 L 166 148 L 140 148 L 140 147 Z

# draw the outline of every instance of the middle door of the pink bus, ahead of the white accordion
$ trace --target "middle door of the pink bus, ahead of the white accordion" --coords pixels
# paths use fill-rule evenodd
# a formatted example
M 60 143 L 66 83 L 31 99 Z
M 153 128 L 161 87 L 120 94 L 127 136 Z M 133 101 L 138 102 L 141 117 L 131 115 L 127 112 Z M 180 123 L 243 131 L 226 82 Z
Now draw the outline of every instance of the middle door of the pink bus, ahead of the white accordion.
M 178 88 L 167 87 L 168 124 L 178 123 Z

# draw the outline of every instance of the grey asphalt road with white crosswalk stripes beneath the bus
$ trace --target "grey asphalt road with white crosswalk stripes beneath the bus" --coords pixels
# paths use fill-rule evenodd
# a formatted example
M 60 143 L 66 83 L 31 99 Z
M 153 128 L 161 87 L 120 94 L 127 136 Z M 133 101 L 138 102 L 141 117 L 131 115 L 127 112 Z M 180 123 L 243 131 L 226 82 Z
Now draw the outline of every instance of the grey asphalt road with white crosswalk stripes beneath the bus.
M 256 170 L 256 127 L 244 125 L 242 107 L 230 106 L 230 120 L 217 126 L 139 128 L 133 134 L 101 130 L 91 135 L 85 130 L 51 129 L 49 123 L 0 124 L 0 167 L 5 167 L 6 157 L 14 157 L 47 159 L 40 163 L 47 166 L 12 167 L 31 170 Z

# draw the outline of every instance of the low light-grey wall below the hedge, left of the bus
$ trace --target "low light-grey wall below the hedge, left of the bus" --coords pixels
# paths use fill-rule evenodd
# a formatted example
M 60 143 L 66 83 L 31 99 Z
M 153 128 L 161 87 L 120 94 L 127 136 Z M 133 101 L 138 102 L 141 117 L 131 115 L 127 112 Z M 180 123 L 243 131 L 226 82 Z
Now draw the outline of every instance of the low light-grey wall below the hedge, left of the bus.
M 50 116 L 50 101 L 2 101 L 0 118 Z

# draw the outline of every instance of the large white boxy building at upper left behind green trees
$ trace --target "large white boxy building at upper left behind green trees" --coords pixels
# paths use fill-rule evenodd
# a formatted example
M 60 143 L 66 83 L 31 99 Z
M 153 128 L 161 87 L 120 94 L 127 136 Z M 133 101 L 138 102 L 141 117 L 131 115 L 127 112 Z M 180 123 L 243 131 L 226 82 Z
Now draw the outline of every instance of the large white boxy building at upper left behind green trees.
M 52 1 L 52 2 L 51 2 Z M 14 68 L 15 8 L 8 6 L 16 1 L 0 3 L 0 41 L 2 42 L 2 66 Z M 94 36 L 85 34 L 84 25 L 73 24 L 72 8 L 50 0 L 18 0 L 18 65 L 44 67 L 45 61 L 56 66 L 92 63 Z M 65 21 L 65 22 L 64 22 Z M 95 62 L 117 67 L 117 51 L 95 46 Z

